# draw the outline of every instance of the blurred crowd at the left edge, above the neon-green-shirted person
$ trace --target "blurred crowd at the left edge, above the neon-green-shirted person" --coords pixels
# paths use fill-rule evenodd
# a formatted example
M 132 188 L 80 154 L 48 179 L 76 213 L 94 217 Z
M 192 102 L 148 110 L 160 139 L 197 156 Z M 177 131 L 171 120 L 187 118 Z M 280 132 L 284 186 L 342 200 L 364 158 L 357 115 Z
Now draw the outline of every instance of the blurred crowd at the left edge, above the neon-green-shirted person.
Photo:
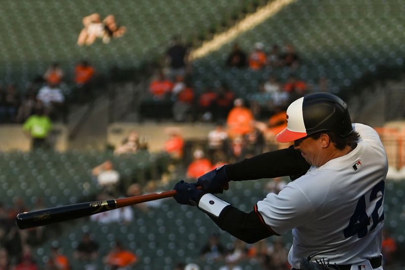
M 95 67 L 86 60 L 80 60 L 71 72 L 68 79 L 55 62 L 24 87 L 0 85 L 0 124 L 24 123 L 37 109 L 52 121 L 66 123 L 69 105 L 89 102 L 97 80 Z

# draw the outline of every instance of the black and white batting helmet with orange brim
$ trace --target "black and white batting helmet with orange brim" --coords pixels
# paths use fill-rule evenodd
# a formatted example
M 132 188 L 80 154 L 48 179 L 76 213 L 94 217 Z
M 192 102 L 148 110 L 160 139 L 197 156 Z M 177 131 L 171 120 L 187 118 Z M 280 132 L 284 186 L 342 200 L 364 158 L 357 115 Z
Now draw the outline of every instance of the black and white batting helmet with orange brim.
M 329 93 L 315 93 L 299 98 L 287 108 L 287 128 L 275 137 L 290 142 L 318 131 L 332 131 L 346 137 L 353 132 L 347 104 Z

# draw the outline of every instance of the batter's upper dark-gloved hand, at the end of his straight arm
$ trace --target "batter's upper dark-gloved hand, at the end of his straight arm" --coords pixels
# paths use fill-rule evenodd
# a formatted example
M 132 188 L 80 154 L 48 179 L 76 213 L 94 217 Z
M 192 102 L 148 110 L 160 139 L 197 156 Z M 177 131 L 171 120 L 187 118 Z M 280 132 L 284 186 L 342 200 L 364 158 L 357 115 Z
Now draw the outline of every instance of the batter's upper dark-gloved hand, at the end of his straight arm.
M 211 172 L 200 176 L 197 180 L 197 185 L 203 187 L 203 190 L 213 194 L 223 193 L 224 189 L 228 190 L 229 188 L 229 178 L 225 172 L 225 166 L 218 167 Z

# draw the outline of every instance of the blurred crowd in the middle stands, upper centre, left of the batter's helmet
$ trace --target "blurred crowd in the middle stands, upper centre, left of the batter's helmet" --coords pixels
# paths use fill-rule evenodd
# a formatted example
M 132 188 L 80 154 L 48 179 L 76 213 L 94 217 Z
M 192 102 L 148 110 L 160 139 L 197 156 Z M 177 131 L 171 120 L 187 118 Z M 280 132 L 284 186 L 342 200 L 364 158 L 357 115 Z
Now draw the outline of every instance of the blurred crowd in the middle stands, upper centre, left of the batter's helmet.
M 221 68 L 237 68 L 248 72 L 271 67 L 272 70 L 287 68 L 290 72 L 285 81 L 278 78 L 276 72 L 271 73 L 266 80 L 259 83 L 257 89 L 249 89 L 243 96 L 240 96 L 238 89 L 230 89 L 226 83 L 220 83 L 219 79 L 206 82 L 206 85 L 211 86 L 197 89 L 188 54 L 189 48 L 179 37 L 175 37 L 165 61 L 151 79 L 149 95 L 142 102 L 141 114 L 144 117 L 158 121 L 169 119 L 176 122 L 215 122 L 226 119 L 233 101 L 242 98 L 254 117 L 263 120 L 310 92 L 331 91 L 330 82 L 324 76 L 320 76 L 315 85 L 299 77 L 295 71 L 302 59 L 289 43 L 282 49 L 278 45 L 266 49 L 264 44 L 258 42 L 249 53 L 238 44 L 234 45 Z

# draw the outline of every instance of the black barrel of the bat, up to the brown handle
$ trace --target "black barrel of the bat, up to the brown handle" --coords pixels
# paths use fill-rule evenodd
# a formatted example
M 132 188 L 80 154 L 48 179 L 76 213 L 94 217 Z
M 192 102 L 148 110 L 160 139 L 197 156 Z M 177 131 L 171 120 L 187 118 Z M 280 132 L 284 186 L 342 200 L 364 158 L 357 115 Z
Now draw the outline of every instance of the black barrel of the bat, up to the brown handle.
M 20 229 L 43 226 L 59 221 L 90 216 L 116 208 L 115 200 L 72 204 L 32 212 L 20 213 L 16 217 Z

